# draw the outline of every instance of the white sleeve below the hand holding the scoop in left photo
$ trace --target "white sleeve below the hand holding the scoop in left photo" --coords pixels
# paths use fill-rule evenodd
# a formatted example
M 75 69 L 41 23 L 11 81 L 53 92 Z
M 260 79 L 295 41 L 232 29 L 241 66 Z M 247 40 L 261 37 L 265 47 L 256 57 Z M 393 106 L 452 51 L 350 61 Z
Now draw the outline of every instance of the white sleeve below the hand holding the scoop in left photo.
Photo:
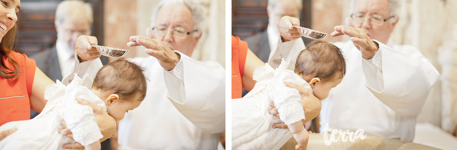
M 62 83 L 64 85 L 69 84 L 71 80 L 73 80 L 74 73 L 78 74 L 80 78 L 83 78 L 84 75 L 87 73 L 88 77 L 91 79 L 91 81 L 93 81 L 95 75 L 98 72 L 98 69 L 100 69 L 101 67 L 103 67 L 103 64 L 101 63 L 100 58 L 81 63 L 78 60 L 78 58 L 75 58 L 73 65 L 71 65 L 68 71 L 64 74 L 64 77 L 62 78 Z

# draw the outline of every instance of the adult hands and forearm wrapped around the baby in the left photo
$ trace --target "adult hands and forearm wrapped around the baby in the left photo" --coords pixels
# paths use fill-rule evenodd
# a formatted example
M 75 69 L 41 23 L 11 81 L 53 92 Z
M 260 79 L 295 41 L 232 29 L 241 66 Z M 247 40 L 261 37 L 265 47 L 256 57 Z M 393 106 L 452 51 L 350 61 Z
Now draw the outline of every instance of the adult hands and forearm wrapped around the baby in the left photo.
M 90 101 L 86 100 L 81 100 L 79 98 L 76 98 L 78 103 L 82 105 L 87 105 L 92 107 L 94 110 L 94 115 L 95 115 L 95 121 L 98 124 L 98 127 L 100 128 L 101 134 L 103 135 L 103 138 L 100 139 L 100 141 L 104 141 L 108 139 L 115 131 L 116 129 L 116 121 L 114 118 L 112 118 L 110 115 L 108 115 L 101 106 L 98 106 L 95 103 L 92 103 Z M 111 123 L 110 123 L 111 122 Z M 62 125 L 64 128 L 59 128 L 58 133 L 69 137 L 70 139 L 73 139 L 73 135 L 69 129 L 66 129 L 67 126 L 65 124 L 65 121 L 62 120 L 60 122 L 60 125 Z M 62 146 L 64 149 L 78 149 L 82 150 L 84 149 L 84 146 L 80 145 L 79 143 L 69 143 L 69 144 L 64 144 Z

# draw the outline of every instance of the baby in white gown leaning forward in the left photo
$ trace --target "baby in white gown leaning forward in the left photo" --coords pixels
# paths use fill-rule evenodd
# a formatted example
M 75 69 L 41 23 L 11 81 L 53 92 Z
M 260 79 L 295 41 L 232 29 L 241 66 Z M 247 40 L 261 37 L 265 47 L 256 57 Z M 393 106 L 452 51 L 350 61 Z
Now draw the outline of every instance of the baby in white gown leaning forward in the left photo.
M 119 121 L 128 110 L 137 108 L 143 101 L 146 80 L 143 67 L 124 59 L 101 67 L 93 84 L 87 75 L 81 79 L 75 74 L 68 86 L 57 80 L 57 84 L 46 88 L 44 98 L 48 103 L 37 117 L 0 127 L 2 131 L 17 129 L 0 141 L 0 150 L 61 150 L 62 145 L 74 142 L 85 146 L 86 150 L 100 150 L 103 135 L 95 122 L 93 110 L 79 104 L 76 98 L 96 103 Z M 74 140 L 58 133 L 62 119 L 73 133 Z M 111 124 L 115 126 L 114 122 Z

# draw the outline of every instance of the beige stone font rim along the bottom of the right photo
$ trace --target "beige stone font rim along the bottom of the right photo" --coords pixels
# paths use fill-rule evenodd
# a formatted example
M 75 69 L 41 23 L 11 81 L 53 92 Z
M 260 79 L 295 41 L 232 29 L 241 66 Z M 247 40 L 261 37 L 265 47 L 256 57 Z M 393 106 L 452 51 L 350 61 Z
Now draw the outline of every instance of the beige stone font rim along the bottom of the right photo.
M 295 150 L 297 142 L 293 137 L 280 150 Z M 386 139 L 367 135 L 364 140 L 356 139 L 354 142 L 343 142 L 341 139 L 324 144 L 324 136 L 319 133 L 309 134 L 308 145 L 299 150 L 441 150 L 434 147 L 420 145 L 403 140 Z

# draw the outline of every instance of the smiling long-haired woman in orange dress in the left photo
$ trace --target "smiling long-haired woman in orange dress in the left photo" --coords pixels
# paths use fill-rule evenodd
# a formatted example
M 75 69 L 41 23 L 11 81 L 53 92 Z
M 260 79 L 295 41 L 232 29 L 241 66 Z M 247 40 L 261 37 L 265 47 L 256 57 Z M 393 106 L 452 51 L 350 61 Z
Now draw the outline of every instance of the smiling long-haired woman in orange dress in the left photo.
M 30 119 L 30 109 L 40 113 L 48 100 L 44 99 L 46 87 L 55 84 L 37 66 L 35 60 L 14 51 L 17 32 L 16 13 L 21 0 L 0 1 L 0 125 L 11 121 Z M 84 102 L 83 102 L 84 103 Z M 103 122 L 114 120 L 103 110 L 94 109 L 97 124 L 103 135 L 110 130 Z M 0 140 L 14 133 L 16 129 L 0 131 Z M 107 133 L 107 137 L 111 133 Z M 65 145 L 64 145 L 65 146 Z

